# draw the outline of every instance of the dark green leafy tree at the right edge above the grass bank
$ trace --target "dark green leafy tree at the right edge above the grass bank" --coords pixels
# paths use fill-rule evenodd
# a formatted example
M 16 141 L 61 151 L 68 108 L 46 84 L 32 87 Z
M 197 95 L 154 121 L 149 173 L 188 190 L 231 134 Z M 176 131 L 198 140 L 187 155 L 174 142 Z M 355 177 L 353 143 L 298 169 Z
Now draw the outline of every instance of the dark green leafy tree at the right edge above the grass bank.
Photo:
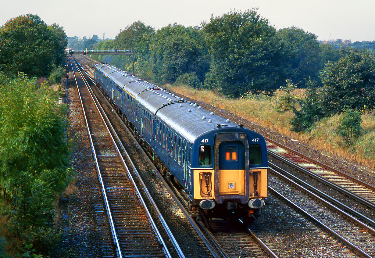
M 328 62 L 320 72 L 321 95 L 325 113 L 337 113 L 346 107 L 375 108 L 375 57 L 369 52 L 342 48 L 338 62 Z

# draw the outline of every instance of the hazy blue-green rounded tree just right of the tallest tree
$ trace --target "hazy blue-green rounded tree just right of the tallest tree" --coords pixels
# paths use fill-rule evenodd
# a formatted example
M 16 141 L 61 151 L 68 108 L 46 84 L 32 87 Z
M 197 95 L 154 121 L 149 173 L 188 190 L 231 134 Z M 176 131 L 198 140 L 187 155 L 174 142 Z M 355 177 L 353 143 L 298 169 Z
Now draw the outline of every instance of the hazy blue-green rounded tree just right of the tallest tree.
M 305 32 L 302 28 L 283 28 L 277 32 L 282 43 L 284 73 L 300 87 L 305 87 L 306 80 L 318 78 L 320 63 L 320 43 L 317 35 Z

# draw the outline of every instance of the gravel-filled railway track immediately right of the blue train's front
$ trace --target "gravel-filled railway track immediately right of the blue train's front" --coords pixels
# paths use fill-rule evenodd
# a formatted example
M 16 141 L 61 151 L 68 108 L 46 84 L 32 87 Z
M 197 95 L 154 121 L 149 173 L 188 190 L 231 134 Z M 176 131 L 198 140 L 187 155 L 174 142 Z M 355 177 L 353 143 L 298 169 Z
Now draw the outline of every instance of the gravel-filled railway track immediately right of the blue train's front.
M 281 176 L 281 175 L 279 175 Z M 284 178 L 284 180 L 288 180 Z M 375 257 L 375 230 L 297 183 L 285 186 L 271 178 L 270 192 L 287 202 L 360 257 Z M 289 181 L 289 183 L 291 183 Z M 296 193 L 299 193 L 298 195 Z

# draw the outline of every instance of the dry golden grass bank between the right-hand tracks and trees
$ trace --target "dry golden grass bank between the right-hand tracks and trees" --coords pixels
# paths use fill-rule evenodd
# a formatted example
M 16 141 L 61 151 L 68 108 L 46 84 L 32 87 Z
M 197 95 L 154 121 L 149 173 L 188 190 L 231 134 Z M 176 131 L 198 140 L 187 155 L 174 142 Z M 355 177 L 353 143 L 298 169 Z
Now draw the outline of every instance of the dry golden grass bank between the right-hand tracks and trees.
M 292 139 L 311 145 L 312 147 L 351 160 L 360 165 L 375 169 L 375 113 L 362 115 L 362 136 L 352 145 L 347 146 L 335 133 L 339 116 L 325 118 L 314 125 L 310 133 L 296 133 L 289 128 L 293 113 L 277 113 L 269 98 L 249 96 L 249 98 L 227 99 L 208 90 L 196 90 L 185 86 L 171 86 L 169 89 L 200 102 L 223 108 L 232 113 L 269 127 Z M 304 98 L 305 90 L 297 89 L 295 96 Z

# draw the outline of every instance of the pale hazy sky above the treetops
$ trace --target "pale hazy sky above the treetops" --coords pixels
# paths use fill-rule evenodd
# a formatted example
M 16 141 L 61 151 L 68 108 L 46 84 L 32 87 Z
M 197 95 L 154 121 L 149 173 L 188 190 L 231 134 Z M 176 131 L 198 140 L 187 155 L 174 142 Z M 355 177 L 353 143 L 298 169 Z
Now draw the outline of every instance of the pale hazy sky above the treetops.
M 173 23 L 199 26 L 211 14 L 253 7 L 277 29 L 300 27 L 319 40 L 375 40 L 374 0 L 0 0 L 0 26 L 32 13 L 48 25 L 59 23 L 69 37 L 102 39 L 138 20 L 156 30 Z

